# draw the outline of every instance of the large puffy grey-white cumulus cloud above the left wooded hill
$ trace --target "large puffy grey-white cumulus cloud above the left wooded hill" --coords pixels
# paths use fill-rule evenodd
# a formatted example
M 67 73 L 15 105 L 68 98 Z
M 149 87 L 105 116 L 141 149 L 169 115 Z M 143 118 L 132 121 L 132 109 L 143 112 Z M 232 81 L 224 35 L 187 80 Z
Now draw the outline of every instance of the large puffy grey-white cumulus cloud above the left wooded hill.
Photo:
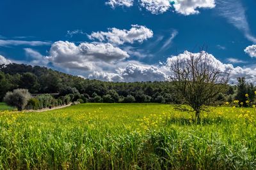
M 128 57 L 127 52 L 109 43 L 81 43 L 77 46 L 68 41 L 58 41 L 51 46 L 46 59 L 67 69 L 92 71 L 99 68 L 99 63 L 100 66 L 108 65 Z

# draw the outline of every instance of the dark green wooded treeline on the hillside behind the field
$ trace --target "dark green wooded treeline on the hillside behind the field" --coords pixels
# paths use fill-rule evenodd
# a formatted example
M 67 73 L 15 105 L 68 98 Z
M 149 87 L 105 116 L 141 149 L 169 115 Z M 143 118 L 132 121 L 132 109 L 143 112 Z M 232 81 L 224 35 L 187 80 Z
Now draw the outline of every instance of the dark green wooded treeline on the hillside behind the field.
M 227 87 L 227 92 L 220 94 L 216 104 L 239 100 L 246 103 L 255 99 L 255 87 L 244 78 L 239 78 L 237 85 Z M 64 103 L 60 97 L 70 96 L 72 101 L 80 103 L 182 103 L 170 81 L 116 83 L 88 80 L 79 76 L 61 73 L 47 67 L 28 66 L 26 64 L 8 64 L 0 66 L 0 101 L 6 92 L 15 89 L 28 89 L 31 94 L 53 94 L 58 105 Z M 56 105 L 56 104 L 55 104 Z M 41 107 L 40 107 L 41 108 Z

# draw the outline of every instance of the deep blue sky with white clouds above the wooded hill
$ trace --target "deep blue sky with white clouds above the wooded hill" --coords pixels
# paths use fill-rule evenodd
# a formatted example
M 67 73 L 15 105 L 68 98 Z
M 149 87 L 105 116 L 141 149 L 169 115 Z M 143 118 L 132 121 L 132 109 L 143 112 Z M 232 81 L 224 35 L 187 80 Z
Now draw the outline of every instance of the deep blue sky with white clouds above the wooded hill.
M 0 64 L 103 81 L 164 81 L 204 50 L 256 83 L 255 0 L 2 0 Z

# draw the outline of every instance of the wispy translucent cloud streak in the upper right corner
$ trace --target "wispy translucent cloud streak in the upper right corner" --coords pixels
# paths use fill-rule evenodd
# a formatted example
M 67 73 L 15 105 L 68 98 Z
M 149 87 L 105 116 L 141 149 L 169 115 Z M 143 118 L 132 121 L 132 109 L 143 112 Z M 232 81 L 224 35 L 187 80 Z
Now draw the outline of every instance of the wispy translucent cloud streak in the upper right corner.
M 241 1 L 220 0 L 217 2 L 219 15 L 226 18 L 230 24 L 234 25 L 237 27 L 237 29 L 242 31 L 248 40 L 256 43 L 256 37 L 253 36 L 250 31 L 245 10 Z

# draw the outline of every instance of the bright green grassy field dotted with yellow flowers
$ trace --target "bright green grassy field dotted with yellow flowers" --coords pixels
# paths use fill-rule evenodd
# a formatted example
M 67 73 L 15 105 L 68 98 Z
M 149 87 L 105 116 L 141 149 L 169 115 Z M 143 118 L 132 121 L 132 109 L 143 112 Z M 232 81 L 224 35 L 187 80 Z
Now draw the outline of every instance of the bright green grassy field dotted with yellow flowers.
M 255 108 L 194 124 L 168 104 L 0 113 L 0 169 L 255 169 Z

